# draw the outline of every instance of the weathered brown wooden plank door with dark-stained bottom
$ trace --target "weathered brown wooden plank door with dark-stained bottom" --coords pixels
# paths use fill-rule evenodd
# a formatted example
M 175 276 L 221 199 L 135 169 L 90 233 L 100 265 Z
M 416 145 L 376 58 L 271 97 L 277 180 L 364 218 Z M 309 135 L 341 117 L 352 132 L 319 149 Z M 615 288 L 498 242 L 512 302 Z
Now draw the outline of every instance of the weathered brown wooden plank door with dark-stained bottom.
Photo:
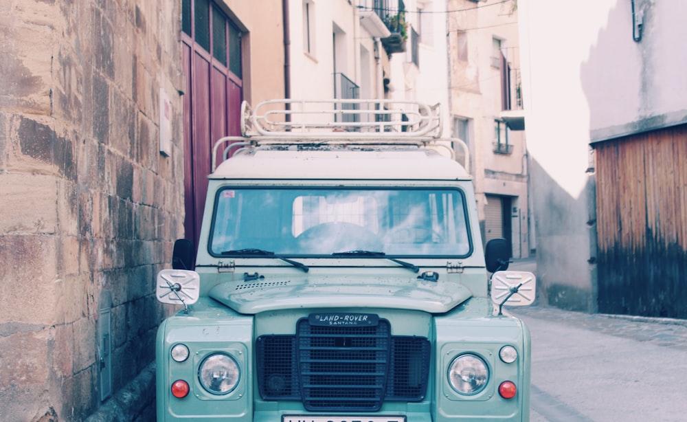
M 599 311 L 687 318 L 687 125 L 594 152 Z

